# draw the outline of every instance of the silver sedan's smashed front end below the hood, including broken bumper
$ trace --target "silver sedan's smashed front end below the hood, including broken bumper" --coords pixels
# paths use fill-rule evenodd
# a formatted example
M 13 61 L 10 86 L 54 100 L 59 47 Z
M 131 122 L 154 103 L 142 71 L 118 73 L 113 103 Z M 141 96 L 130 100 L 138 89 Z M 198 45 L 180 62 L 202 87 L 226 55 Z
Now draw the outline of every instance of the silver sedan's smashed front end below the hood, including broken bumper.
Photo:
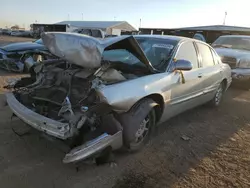
M 63 140 L 72 150 L 64 162 L 76 162 L 103 149 L 122 146 L 122 127 L 111 106 L 96 90 L 110 80 L 122 81 L 114 69 L 88 70 L 62 60 L 44 61 L 29 78 L 6 93 L 14 114 L 33 128 Z M 104 72 L 113 70 L 109 78 Z M 113 74 L 113 75 L 112 75 Z

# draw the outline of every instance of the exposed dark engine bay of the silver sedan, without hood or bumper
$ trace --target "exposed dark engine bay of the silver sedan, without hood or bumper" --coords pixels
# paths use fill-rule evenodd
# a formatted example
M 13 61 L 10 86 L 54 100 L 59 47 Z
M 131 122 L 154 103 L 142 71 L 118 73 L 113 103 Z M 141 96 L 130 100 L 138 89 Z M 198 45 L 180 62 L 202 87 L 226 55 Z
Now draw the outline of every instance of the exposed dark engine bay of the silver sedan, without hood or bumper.
M 145 75 L 145 70 L 119 62 L 104 61 L 98 69 L 86 69 L 63 60 L 48 60 L 34 66 L 31 77 L 18 81 L 13 94 L 33 112 L 69 124 L 66 140 L 75 147 L 122 129 L 112 107 L 100 100 L 96 89 L 135 79 Z

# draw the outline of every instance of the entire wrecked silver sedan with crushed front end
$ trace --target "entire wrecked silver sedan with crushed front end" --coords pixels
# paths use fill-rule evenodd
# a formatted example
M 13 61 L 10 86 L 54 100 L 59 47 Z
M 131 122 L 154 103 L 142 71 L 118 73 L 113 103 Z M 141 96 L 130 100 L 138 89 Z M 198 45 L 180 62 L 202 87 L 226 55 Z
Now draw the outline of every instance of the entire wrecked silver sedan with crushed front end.
M 64 163 L 106 148 L 139 150 L 156 124 L 197 105 L 218 106 L 231 83 L 230 67 L 194 39 L 42 38 L 60 60 L 35 66 L 6 97 L 17 117 L 70 146 Z

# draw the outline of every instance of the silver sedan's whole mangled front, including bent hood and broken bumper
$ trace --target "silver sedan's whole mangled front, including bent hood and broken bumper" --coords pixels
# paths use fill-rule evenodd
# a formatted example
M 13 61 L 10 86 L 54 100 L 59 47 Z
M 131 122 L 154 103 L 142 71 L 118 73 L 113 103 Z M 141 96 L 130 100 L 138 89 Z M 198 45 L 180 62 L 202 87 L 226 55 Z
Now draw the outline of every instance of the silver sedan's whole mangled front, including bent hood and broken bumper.
M 122 147 L 120 114 L 105 100 L 101 90 L 152 73 L 142 50 L 133 43 L 135 39 L 111 39 L 101 44 L 88 37 L 49 33 L 43 36 L 43 41 L 61 59 L 42 61 L 31 68 L 29 78 L 7 87 L 12 90 L 6 93 L 6 98 L 13 113 L 33 128 L 70 146 L 64 163 L 98 155 L 107 147 L 112 150 Z M 64 42 L 74 45 L 69 48 Z M 102 58 L 104 50 L 123 46 L 146 66 L 135 69 Z

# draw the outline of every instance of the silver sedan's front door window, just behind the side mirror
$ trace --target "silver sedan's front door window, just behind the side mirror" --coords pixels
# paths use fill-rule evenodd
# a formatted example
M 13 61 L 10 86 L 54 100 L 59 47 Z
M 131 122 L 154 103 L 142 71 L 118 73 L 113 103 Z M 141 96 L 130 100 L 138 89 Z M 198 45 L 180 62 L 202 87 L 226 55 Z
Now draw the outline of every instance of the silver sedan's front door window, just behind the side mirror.
M 193 42 L 183 43 L 180 46 L 175 58 L 177 60 L 183 59 L 183 60 L 190 61 L 193 65 L 193 69 L 198 68 L 197 53 L 196 53 L 196 50 L 194 48 Z

